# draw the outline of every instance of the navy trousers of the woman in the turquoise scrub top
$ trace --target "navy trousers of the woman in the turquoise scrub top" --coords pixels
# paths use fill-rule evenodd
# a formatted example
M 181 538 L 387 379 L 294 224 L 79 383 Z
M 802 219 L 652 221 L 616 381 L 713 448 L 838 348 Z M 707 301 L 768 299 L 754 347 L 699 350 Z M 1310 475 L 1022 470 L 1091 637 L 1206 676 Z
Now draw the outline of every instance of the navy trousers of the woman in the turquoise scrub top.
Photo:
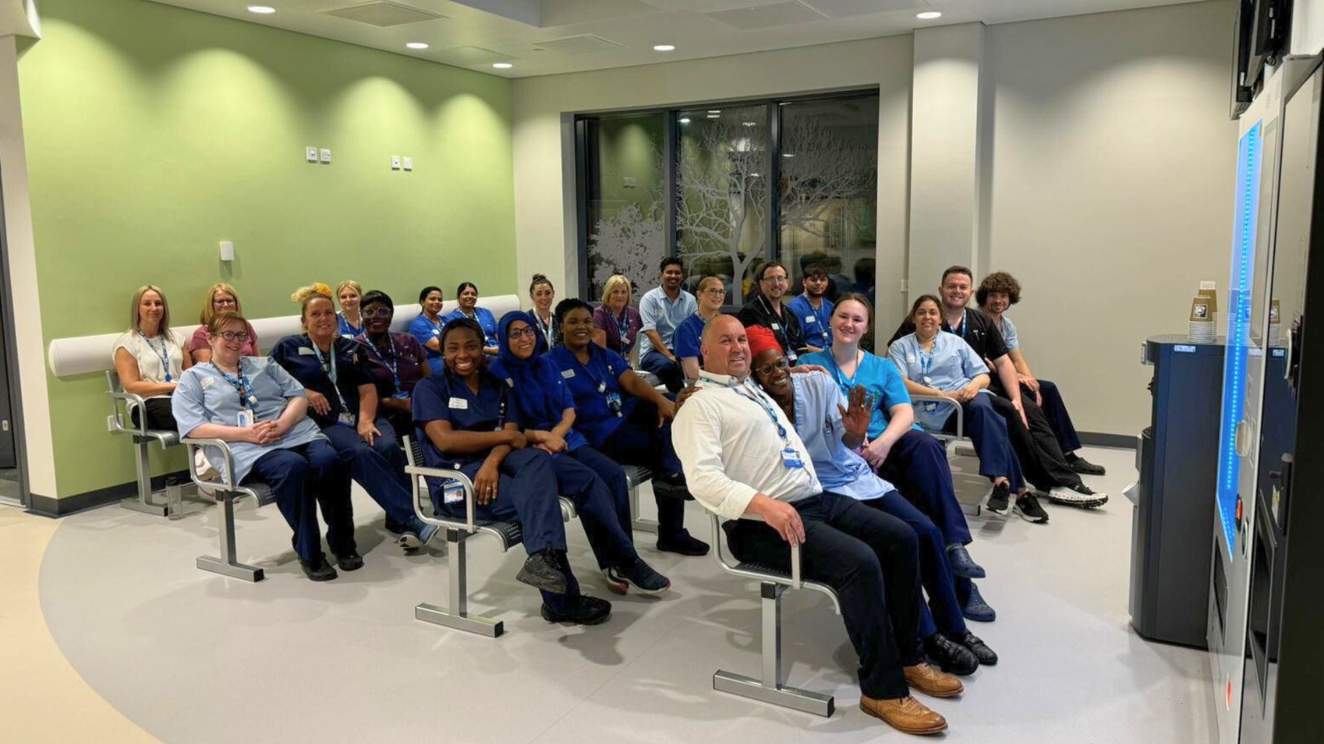
M 941 442 L 911 429 L 892 445 L 878 474 L 933 520 L 948 545 L 970 543 L 970 526 L 956 500 L 952 469 Z

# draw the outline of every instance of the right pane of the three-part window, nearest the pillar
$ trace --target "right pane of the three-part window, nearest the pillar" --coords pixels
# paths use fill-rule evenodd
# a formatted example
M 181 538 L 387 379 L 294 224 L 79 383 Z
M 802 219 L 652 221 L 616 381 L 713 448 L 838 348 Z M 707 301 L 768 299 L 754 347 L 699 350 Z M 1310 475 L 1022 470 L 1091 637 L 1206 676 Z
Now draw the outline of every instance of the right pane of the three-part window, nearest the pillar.
M 796 101 L 781 111 L 779 226 L 792 291 L 821 265 L 829 298 L 874 301 L 878 216 L 878 95 Z

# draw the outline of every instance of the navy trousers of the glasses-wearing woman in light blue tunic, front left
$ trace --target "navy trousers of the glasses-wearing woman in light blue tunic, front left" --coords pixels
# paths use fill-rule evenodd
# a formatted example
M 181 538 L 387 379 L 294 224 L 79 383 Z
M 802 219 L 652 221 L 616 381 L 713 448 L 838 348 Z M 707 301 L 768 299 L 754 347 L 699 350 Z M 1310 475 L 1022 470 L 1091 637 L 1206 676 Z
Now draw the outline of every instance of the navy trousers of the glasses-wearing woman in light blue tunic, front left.
M 244 483 L 261 481 L 275 495 L 275 506 L 294 530 L 294 552 L 314 561 L 322 555 L 318 504 L 327 522 L 327 543 L 335 555 L 354 552 L 354 508 L 350 473 L 330 443 L 316 440 L 290 449 L 274 449 L 253 463 Z

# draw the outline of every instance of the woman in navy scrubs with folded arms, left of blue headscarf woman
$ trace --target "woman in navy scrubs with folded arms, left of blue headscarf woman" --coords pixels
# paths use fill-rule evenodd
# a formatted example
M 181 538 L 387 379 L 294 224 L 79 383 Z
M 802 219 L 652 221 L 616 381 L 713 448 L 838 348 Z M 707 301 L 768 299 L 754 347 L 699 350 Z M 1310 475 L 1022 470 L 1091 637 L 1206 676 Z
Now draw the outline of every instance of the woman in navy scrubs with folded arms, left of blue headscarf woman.
M 528 559 L 518 581 L 543 593 L 548 622 L 597 625 L 612 614 L 606 600 L 580 593 L 565 557 L 565 526 L 552 455 L 520 433 L 519 400 L 504 380 L 483 369 L 483 330 L 462 318 L 441 331 L 445 365 L 418 383 L 414 424 L 424 430 L 424 463 L 458 470 L 474 486 L 475 516 L 519 522 Z M 437 510 L 465 512 L 448 502 L 440 479 L 428 478 Z

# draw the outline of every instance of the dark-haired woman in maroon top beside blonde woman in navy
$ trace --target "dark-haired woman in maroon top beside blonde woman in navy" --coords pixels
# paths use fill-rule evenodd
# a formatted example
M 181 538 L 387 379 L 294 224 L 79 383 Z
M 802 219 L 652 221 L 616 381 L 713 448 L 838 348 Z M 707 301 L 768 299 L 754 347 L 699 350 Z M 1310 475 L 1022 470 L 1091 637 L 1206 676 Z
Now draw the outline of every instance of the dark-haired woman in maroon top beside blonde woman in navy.
M 432 375 L 428 353 L 410 334 L 391 330 L 396 306 L 381 290 L 371 290 L 359 303 L 363 332 L 357 340 L 367 349 L 368 368 L 377 387 L 377 401 L 383 416 L 397 436 L 413 436 L 410 396 L 418 380 Z

